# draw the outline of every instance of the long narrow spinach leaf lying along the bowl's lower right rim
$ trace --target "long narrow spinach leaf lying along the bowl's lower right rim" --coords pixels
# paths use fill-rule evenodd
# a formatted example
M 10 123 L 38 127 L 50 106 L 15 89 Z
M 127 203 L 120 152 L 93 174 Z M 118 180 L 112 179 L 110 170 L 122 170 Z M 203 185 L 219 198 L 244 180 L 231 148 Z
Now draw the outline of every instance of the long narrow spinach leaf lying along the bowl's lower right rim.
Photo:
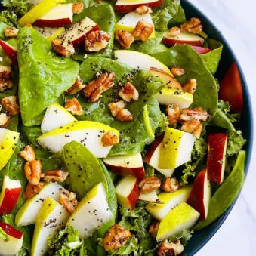
M 195 230 L 202 230 L 217 220 L 236 199 L 244 183 L 245 154 L 245 151 L 239 152 L 236 165 L 230 175 L 224 180 L 224 183 L 221 184 L 221 187 L 217 189 L 211 198 L 206 221 L 199 221 L 196 227 L 194 227 Z

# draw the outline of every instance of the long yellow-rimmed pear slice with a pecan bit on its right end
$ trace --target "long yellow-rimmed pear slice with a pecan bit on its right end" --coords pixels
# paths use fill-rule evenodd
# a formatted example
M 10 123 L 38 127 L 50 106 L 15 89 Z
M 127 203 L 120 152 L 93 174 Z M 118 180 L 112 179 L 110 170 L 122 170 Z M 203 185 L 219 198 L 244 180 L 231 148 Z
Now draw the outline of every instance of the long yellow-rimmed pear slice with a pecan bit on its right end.
M 63 128 L 49 131 L 40 136 L 38 141 L 45 149 L 57 153 L 67 143 L 74 140 L 82 143 L 97 158 L 105 158 L 109 154 L 112 146 L 104 147 L 101 138 L 109 131 L 113 131 L 116 135 L 119 135 L 119 131 L 100 122 L 79 121 L 65 125 Z

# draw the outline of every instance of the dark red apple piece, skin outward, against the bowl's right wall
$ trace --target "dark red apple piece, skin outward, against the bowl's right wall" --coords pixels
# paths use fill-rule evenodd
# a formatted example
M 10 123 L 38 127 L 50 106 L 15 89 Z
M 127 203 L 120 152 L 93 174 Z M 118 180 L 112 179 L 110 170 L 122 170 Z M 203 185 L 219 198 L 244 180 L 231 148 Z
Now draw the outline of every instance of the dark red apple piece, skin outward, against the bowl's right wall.
M 219 97 L 221 100 L 230 103 L 232 112 L 242 113 L 242 82 L 235 62 L 231 64 L 224 79 L 221 81 Z

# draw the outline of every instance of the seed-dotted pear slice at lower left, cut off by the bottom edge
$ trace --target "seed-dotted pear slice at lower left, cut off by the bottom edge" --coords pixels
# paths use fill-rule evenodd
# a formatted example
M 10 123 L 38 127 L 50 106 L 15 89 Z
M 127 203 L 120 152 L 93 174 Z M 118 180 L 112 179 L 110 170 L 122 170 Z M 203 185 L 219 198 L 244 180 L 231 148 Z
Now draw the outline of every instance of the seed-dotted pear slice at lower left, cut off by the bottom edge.
M 69 213 L 51 197 L 45 199 L 35 222 L 31 256 L 45 255 L 48 251 L 48 236 L 65 226 Z

